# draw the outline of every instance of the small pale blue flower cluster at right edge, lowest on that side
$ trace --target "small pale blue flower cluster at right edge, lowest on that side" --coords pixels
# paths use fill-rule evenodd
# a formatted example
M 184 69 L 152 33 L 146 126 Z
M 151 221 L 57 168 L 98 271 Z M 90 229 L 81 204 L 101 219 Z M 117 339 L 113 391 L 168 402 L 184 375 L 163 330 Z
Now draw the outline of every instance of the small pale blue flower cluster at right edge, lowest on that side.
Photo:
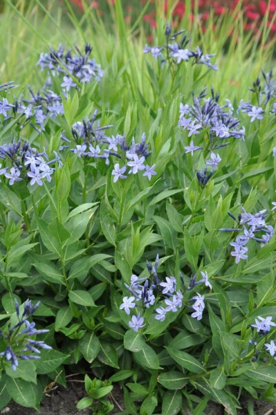
M 258 318 L 255 319 L 255 324 L 250 324 L 250 327 L 252 329 L 252 339 L 249 340 L 249 343 L 253 344 L 255 348 L 255 356 L 253 356 L 252 358 L 253 362 L 255 362 L 259 357 L 259 350 L 256 350 L 257 338 L 260 335 L 267 336 L 270 332 L 271 327 L 276 326 L 276 323 L 271 320 L 271 316 L 268 316 L 266 318 L 258 316 Z M 276 345 L 274 340 L 270 340 L 270 343 L 265 343 L 264 347 L 266 347 L 266 351 L 269 352 L 270 356 L 273 356 L 273 358 L 276 360 Z

